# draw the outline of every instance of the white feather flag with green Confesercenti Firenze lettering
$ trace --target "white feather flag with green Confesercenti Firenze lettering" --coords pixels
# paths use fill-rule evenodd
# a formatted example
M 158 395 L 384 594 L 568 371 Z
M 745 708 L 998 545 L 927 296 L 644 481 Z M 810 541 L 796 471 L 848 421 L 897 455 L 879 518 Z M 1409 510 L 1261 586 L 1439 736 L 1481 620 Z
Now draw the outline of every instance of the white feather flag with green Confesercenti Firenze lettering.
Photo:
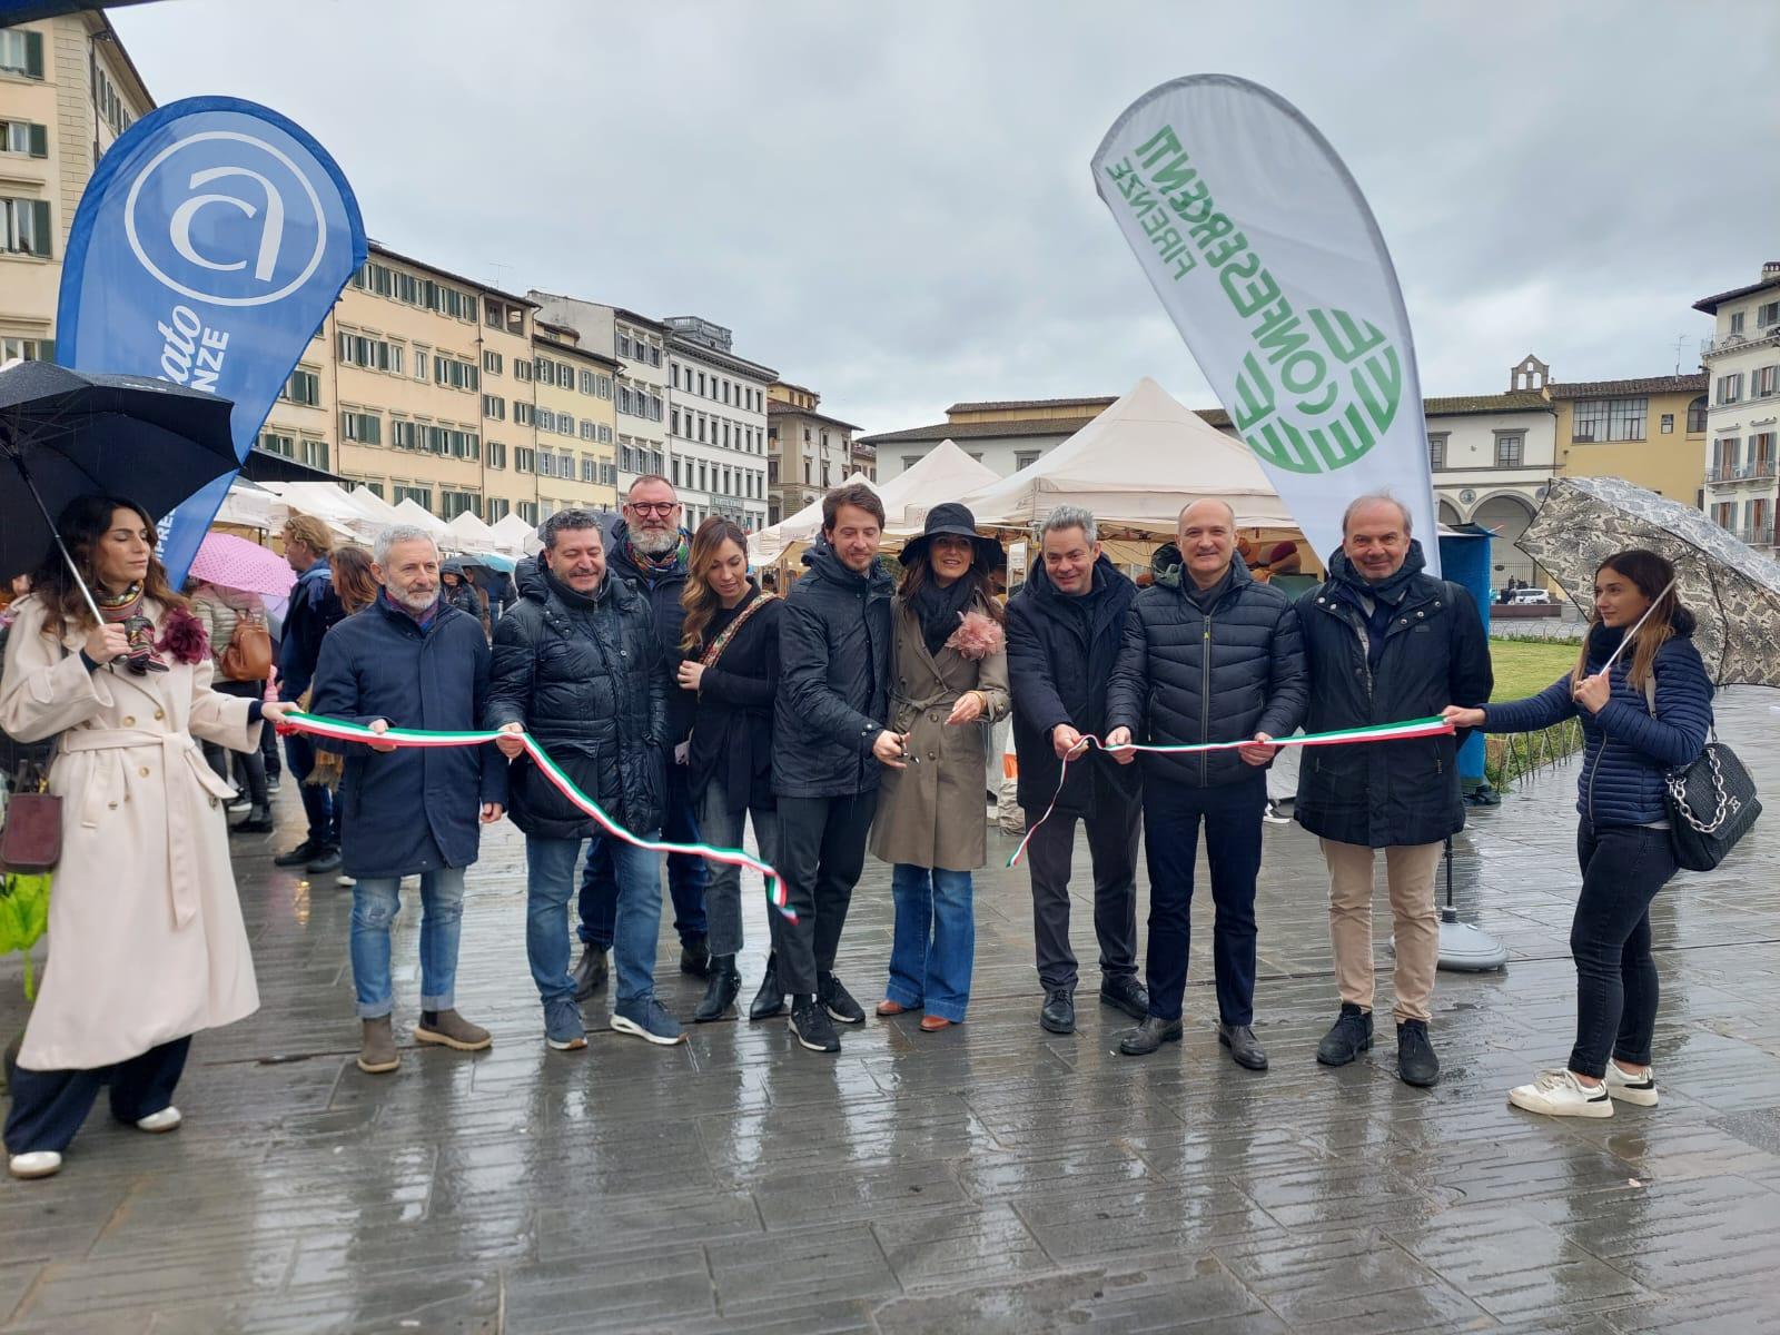
M 1410 507 L 1431 573 L 1428 427 L 1385 240 L 1335 150 L 1230 75 L 1141 96 L 1095 153 L 1095 189 L 1237 433 L 1323 555 L 1347 502 Z

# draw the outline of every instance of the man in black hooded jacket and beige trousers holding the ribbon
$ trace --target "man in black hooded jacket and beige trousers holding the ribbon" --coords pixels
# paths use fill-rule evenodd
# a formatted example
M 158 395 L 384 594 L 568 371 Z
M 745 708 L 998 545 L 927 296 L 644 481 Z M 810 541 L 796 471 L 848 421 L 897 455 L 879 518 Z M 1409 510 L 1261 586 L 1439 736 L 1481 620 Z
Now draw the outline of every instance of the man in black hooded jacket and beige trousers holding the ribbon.
M 1490 641 L 1470 595 L 1422 573 L 1410 513 L 1360 497 L 1342 516 L 1330 578 L 1298 600 L 1310 662 L 1308 732 L 1404 723 L 1490 698 Z M 1317 1061 L 1346 1066 L 1372 1047 L 1372 863 L 1385 851 L 1396 924 L 1397 1075 L 1440 1079 L 1428 1002 L 1440 963 L 1435 869 L 1465 828 L 1460 737 L 1319 746 L 1298 771 L 1298 822 L 1323 838 L 1340 1016 Z

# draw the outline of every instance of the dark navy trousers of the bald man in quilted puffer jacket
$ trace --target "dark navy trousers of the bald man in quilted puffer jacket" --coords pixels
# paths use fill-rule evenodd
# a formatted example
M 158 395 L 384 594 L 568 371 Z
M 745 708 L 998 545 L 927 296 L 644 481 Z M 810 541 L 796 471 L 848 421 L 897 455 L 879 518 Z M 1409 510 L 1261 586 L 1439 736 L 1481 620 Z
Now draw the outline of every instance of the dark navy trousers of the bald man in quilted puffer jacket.
M 1255 1022 L 1255 878 L 1260 874 L 1260 813 L 1267 776 L 1212 789 L 1184 783 L 1143 785 L 1143 853 L 1150 863 L 1150 1015 L 1178 1020 L 1193 945 L 1193 863 L 1205 824 L 1205 860 L 1212 872 L 1212 975 L 1218 1018 Z

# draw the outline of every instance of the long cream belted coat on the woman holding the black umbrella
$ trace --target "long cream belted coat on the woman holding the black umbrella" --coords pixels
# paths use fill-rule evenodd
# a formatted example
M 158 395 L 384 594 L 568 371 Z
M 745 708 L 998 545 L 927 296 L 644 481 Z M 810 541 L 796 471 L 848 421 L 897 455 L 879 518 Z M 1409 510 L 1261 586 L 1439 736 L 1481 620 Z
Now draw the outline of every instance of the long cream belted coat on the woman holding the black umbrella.
M 146 609 L 160 623 L 160 609 Z M 50 961 L 18 1061 L 28 1070 L 109 1066 L 260 1007 L 228 815 L 233 789 L 192 737 L 258 746 L 247 700 L 210 689 L 212 660 L 166 673 L 94 673 L 84 634 L 43 635 L 37 598 L 18 603 L 0 675 L 0 728 L 61 732 L 50 790 L 62 797 L 62 860 L 50 888 Z M 66 653 L 64 653 L 66 650 Z

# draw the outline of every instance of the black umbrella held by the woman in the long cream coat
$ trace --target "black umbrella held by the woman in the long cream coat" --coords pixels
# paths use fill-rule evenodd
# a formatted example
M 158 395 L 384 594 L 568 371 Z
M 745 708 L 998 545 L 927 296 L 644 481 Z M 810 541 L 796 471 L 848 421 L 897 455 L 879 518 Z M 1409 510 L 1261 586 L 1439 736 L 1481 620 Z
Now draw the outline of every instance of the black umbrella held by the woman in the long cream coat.
M 233 408 L 146 376 L 89 376 L 50 361 L 0 368 L 0 457 L 23 481 L 0 484 L 0 578 L 36 566 L 53 541 L 87 591 L 52 516 L 77 497 L 109 491 L 158 522 L 240 466 Z M 93 616 L 103 619 L 98 607 Z

